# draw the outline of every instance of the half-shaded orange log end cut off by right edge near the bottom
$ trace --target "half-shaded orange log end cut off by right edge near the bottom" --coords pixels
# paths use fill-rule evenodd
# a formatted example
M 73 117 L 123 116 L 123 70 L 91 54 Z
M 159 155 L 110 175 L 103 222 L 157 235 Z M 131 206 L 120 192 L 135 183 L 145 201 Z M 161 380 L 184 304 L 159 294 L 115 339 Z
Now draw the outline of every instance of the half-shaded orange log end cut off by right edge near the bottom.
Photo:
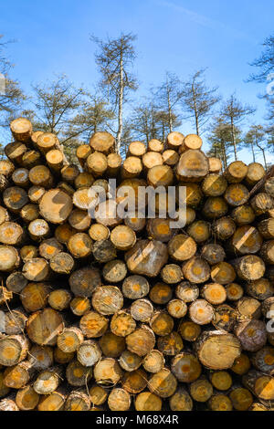
M 243 376 L 243 384 L 251 391 L 259 400 L 273 401 L 274 399 L 274 378 L 270 375 L 265 375 L 259 371 L 248 371 Z

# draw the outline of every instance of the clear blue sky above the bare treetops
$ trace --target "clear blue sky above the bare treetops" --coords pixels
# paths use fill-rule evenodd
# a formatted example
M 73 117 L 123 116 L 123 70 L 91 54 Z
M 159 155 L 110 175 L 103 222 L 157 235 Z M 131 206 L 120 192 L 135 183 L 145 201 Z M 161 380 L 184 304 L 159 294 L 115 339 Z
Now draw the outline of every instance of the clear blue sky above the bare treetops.
M 261 43 L 273 33 L 273 0 L 13 0 L 1 1 L 0 34 L 16 39 L 8 48 L 13 76 L 29 90 L 32 82 L 64 72 L 92 87 L 99 74 L 89 36 L 137 34 L 134 71 L 140 94 L 161 82 L 166 70 L 187 78 L 207 68 L 208 85 L 226 98 L 236 91 L 256 105 L 252 121 L 264 120 L 258 93 L 265 85 L 245 83 Z M 183 123 L 181 131 L 193 131 Z M 251 161 L 248 152 L 242 158 Z

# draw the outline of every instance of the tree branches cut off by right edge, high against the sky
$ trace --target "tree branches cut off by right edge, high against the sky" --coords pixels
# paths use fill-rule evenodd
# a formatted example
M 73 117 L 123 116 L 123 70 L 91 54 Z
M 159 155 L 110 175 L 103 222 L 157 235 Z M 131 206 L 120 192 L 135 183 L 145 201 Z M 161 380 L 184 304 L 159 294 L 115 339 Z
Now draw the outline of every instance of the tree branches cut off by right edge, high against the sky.
M 274 35 L 267 37 L 262 46 L 264 50 L 261 55 L 250 63 L 250 66 L 258 68 L 258 73 L 251 74 L 249 81 L 265 82 L 269 73 L 274 72 Z

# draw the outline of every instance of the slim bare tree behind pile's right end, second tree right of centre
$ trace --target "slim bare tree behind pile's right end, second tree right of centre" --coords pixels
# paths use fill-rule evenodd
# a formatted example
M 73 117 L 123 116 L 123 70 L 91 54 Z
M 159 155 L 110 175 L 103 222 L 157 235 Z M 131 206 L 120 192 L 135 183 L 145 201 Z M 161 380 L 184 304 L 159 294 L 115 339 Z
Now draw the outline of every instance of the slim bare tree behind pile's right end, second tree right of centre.
M 248 104 L 244 105 L 237 100 L 235 94 L 232 94 L 222 106 L 221 115 L 230 124 L 235 160 L 237 160 L 236 125 L 239 125 L 248 115 L 251 115 L 254 112 L 255 109 L 253 107 L 248 106 Z

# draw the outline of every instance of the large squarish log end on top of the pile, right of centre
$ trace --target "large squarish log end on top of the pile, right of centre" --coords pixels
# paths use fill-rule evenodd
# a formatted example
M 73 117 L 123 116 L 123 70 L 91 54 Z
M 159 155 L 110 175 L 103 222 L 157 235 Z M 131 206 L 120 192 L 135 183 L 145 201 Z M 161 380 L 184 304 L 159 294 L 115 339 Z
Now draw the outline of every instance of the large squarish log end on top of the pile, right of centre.
M 208 161 L 203 152 L 188 150 L 180 156 L 176 174 L 179 180 L 201 182 L 208 173 L 208 169 Z

